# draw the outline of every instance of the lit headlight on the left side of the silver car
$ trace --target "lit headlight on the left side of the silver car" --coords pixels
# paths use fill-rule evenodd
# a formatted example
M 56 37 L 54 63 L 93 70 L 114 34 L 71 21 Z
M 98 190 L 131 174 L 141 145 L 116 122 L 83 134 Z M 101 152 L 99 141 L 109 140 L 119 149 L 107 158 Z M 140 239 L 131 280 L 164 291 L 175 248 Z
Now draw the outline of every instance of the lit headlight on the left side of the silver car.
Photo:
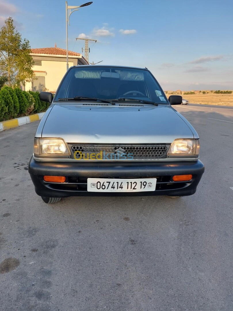
M 34 138 L 34 155 L 70 155 L 62 138 Z

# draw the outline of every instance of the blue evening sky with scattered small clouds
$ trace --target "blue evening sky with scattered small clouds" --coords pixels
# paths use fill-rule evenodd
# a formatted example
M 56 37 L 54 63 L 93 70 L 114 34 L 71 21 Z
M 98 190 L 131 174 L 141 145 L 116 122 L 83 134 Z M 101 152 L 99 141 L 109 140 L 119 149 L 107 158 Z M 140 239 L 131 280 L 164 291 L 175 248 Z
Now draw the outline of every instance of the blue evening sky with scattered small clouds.
M 147 67 L 164 90 L 233 90 L 232 9 L 232 0 L 93 0 L 70 16 L 69 50 L 82 53 L 75 38 L 89 37 L 90 62 Z M 66 49 L 64 0 L 0 0 L 0 27 L 8 16 L 31 48 Z

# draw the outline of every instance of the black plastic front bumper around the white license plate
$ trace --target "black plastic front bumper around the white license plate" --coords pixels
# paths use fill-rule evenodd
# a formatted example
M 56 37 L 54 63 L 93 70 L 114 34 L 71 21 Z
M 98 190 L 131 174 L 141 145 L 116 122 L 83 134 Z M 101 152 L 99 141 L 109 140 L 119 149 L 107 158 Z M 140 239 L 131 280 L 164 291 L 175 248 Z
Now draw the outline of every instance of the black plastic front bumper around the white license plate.
M 42 197 L 72 196 L 144 196 L 171 195 L 188 196 L 196 192 L 204 173 L 203 163 L 183 162 L 38 162 L 31 158 L 29 174 L 35 192 Z M 173 175 L 192 174 L 188 182 L 173 182 Z M 65 183 L 48 183 L 44 175 L 66 176 Z M 95 193 L 87 191 L 87 178 L 149 178 L 156 177 L 153 192 Z

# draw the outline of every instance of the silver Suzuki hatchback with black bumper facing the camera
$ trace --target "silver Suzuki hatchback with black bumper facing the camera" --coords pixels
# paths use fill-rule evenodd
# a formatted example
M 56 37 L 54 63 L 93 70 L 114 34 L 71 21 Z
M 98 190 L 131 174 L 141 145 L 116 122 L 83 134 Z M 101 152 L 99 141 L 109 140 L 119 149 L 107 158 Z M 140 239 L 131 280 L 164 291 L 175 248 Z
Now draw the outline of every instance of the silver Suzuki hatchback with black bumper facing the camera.
M 199 137 L 147 68 L 74 66 L 34 138 L 29 173 L 46 203 L 70 196 L 192 195 Z

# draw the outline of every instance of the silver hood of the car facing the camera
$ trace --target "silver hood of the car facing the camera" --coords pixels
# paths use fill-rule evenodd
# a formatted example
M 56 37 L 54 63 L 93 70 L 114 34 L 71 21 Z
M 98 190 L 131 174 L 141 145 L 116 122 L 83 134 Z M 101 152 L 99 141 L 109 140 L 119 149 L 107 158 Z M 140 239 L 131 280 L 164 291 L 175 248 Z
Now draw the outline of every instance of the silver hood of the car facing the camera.
M 169 105 L 61 103 L 43 122 L 37 137 L 62 137 L 67 143 L 171 143 L 194 137 L 189 123 Z

